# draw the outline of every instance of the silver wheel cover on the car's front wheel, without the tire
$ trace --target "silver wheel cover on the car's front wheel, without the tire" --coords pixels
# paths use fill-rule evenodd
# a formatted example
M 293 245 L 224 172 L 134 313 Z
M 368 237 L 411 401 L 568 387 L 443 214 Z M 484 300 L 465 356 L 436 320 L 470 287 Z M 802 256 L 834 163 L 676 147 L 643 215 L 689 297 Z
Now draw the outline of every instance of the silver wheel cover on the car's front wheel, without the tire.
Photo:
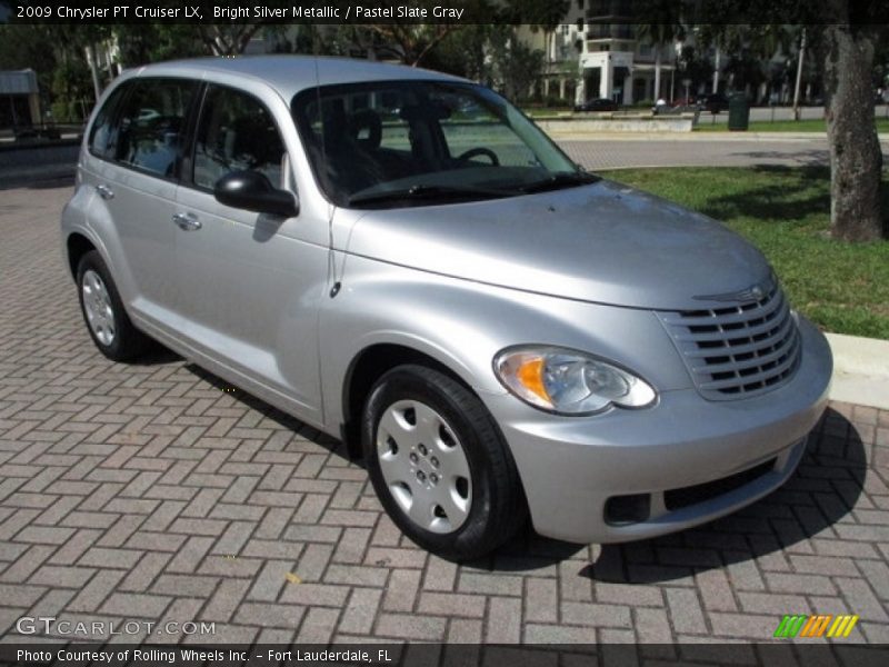
M 420 528 L 453 532 L 472 507 L 469 461 L 453 429 L 417 400 L 389 406 L 377 427 L 377 458 L 398 506 Z

